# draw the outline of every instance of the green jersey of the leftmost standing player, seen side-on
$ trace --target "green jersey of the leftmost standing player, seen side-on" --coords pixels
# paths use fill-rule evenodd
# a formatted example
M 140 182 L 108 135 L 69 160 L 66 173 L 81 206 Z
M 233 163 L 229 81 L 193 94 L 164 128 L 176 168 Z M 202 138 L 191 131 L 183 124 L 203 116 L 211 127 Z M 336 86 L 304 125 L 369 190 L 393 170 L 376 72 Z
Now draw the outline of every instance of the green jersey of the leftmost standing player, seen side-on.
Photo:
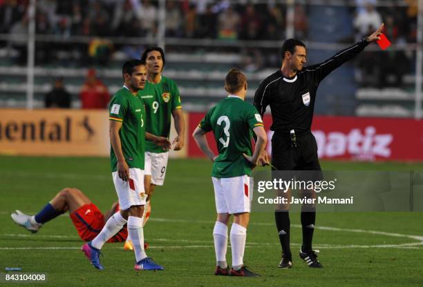
M 145 109 L 138 95 L 133 95 L 126 87 L 118 90 L 109 107 L 109 120 L 122 122 L 119 130 L 122 152 L 129 168 L 144 169 L 145 150 Z M 111 170 L 117 170 L 118 159 L 110 149 Z

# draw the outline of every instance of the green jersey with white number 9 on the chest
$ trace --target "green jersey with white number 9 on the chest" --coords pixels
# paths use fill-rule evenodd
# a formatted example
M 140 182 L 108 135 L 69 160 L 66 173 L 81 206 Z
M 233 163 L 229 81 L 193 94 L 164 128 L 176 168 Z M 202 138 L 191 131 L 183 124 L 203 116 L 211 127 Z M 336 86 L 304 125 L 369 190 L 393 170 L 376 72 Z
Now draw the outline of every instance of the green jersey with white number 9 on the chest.
M 169 138 L 172 111 L 182 108 L 176 83 L 167 77 L 159 83 L 145 83 L 144 90 L 138 95 L 144 102 L 147 113 L 146 131 L 159 137 Z M 151 141 L 146 141 L 146 151 L 164 152 L 163 148 Z

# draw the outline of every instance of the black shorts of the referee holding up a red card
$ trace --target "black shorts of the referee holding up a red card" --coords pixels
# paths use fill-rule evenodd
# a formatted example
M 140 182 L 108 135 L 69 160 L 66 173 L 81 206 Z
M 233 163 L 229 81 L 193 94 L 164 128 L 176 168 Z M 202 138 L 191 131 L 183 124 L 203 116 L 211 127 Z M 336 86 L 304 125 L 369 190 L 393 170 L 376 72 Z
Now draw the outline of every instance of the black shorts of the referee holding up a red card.
M 304 135 L 296 135 L 296 137 L 297 147 L 294 148 L 288 133 L 274 132 L 272 165 L 275 170 L 314 170 L 314 172 L 305 172 L 312 177 L 310 180 L 323 179 L 314 135 L 307 132 Z

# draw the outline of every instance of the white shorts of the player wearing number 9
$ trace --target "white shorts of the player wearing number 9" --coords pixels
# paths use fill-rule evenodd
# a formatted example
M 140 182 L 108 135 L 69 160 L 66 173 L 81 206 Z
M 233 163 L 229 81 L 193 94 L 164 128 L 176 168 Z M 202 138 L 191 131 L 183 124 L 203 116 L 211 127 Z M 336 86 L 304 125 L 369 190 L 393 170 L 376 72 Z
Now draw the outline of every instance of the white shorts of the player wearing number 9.
M 151 175 L 151 184 L 162 186 L 167 170 L 167 159 L 169 152 L 145 152 L 144 172 Z

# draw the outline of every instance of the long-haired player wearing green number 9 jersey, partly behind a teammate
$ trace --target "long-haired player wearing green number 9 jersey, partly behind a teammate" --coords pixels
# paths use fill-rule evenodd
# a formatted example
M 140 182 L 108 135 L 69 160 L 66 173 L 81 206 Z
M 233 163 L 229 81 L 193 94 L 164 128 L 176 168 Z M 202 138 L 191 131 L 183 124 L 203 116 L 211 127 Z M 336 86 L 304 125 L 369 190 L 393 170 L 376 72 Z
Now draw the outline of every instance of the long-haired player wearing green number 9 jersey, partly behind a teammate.
M 144 101 L 147 112 L 146 130 L 153 135 L 169 138 L 171 117 L 178 136 L 173 139 L 173 150 L 181 150 L 185 139 L 185 121 L 178 86 L 171 79 L 164 77 L 162 71 L 164 52 L 160 47 L 147 48 L 142 53 L 141 61 L 147 65 L 147 83 L 139 95 Z M 167 170 L 169 151 L 155 143 L 146 142 L 144 187 L 148 195 L 144 224 L 151 212 L 151 197 L 156 186 L 162 186 Z

